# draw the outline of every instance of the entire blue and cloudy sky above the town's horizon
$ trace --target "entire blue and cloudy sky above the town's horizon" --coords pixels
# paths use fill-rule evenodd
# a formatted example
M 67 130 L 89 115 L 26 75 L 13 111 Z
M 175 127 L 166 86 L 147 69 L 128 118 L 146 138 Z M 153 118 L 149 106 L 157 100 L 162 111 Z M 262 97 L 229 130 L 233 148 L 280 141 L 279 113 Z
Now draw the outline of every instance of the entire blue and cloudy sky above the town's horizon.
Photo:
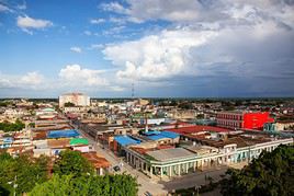
M 0 97 L 294 96 L 293 0 L 0 0 Z

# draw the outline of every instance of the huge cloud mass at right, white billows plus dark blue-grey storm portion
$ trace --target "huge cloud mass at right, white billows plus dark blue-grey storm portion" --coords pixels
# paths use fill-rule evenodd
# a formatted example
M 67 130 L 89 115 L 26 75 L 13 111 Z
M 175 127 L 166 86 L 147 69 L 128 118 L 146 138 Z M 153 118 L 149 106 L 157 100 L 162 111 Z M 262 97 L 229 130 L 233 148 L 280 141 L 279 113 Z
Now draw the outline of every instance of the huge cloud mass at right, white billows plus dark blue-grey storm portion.
M 217 87 L 213 90 L 216 94 L 228 93 L 220 85 L 224 82 L 231 83 L 236 92 L 240 92 L 239 87 L 247 88 L 246 93 L 280 92 L 279 87 L 285 92 L 289 90 L 281 83 L 289 87 L 293 82 L 282 71 L 294 69 L 290 44 L 294 38 L 294 3 L 290 1 L 127 0 L 121 7 L 103 5 L 121 14 L 124 22 L 163 20 L 170 25 L 135 41 L 105 46 L 103 54 L 116 66 L 118 80 L 162 84 L 174 83 L 171 78 L 177 76 L 190 79 L 188 83 Z M 276 84 L 265 78 L 274 78 Z

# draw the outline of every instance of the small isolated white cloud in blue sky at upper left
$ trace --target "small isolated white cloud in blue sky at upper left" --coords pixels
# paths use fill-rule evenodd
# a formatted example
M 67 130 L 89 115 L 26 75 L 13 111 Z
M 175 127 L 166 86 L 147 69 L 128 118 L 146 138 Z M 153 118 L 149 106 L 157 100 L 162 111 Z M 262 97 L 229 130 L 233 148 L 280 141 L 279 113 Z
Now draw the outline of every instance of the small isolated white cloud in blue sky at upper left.
M 16 24 L 24 32 L 32 34 L 30 30 L 43 30 L 53 25 L 50 21 L 42 20 L 42 19 L 33 19 L 27 15 L 18 16 Z

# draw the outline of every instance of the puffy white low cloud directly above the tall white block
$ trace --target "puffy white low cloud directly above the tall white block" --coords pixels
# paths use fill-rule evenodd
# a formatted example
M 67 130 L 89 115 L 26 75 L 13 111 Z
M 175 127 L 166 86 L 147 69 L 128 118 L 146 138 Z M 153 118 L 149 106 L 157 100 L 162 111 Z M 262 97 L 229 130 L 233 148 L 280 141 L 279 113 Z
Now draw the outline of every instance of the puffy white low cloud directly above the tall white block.
M 81 68 L 80 65 L 68 65 L 59 71 L 59 78 L 69 87 L 103 87 L 108 81 L 101 77 L 104 70 Z

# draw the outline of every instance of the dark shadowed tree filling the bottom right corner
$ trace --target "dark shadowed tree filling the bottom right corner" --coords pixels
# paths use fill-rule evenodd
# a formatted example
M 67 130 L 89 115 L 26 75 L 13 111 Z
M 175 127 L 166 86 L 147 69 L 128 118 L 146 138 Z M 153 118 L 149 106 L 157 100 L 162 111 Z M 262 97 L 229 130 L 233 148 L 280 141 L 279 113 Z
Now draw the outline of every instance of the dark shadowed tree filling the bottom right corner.
M 242 170 L 228 170 L 222 183 L 223 195 L 294 195 L 294 148 L 280 146 L 263 151 Z

